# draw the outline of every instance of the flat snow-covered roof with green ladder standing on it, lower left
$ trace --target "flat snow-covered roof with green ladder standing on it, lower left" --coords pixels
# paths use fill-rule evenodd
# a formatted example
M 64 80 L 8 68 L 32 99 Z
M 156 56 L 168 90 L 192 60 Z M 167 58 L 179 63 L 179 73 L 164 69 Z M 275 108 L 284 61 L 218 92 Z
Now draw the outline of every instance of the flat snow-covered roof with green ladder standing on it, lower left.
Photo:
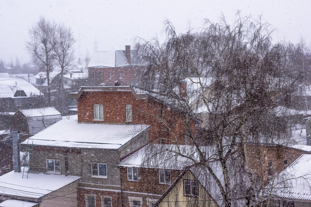
M 23 167 L 20 173 L 11 171 L 0 176 L 0 194 L 40 198 L 80 178 L 77 176 L 29 173 L 28 179 L 26 179 L 22 178 L 22 174 Z

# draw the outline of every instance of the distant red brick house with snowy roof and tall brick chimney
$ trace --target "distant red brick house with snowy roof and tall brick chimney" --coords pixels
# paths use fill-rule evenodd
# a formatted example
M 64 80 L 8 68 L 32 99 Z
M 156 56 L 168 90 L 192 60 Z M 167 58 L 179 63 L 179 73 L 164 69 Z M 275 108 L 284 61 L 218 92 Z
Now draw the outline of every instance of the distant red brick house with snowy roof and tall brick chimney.
M 118 81 L 121 85 L 134 85 L 140 67 L 137 50 L 131 50 L 130 45 L 125 50 L 94 52 L 88 64 L 89 84 L 114 86 Z

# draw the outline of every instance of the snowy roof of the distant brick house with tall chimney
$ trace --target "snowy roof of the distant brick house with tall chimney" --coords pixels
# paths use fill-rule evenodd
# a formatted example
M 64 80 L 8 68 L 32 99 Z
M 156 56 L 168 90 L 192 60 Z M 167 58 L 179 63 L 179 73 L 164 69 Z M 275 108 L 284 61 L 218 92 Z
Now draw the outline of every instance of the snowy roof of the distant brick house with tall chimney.
M 120 67 L 137 65 L 137 50 L 131 50 L 131 63 L 125 56 L 125 50 L 94 52 L 88 64 L 89 67 Z

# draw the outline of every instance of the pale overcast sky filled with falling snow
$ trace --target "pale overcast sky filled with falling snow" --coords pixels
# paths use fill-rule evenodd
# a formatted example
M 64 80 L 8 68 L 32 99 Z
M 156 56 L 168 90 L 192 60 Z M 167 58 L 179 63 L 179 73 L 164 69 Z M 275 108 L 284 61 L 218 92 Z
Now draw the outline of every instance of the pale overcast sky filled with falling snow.
M 274 42 L 285 37 L 293 43 L 301 35 L 310 43 L 311 2 L 299 0 L 256 0 L 256 1 L 0 1 L 0 59 L 9 65 L 16 56 L 21 63 L 30 61 L 25 42 L 29 39 L 28 29 L 41 15 L 50 20 L 70 26 L 77 39 L 76 56 L 90 56 L 94 52 L 95 38 L 98 50 L 124 50 L 132 45 L 134 36 L 150 38 L 160 34 L 163 20 L 168 18 L 177 32 L 183 32 L 188 20 L 192 27 L 202 26 L 204 18 L 218 21 L 223 12 L 233 20 L 237 10 L 243 15 L 262 13 L 265 20 L 278 29 Z M 80 45 L 80 47 L 79 47 Z

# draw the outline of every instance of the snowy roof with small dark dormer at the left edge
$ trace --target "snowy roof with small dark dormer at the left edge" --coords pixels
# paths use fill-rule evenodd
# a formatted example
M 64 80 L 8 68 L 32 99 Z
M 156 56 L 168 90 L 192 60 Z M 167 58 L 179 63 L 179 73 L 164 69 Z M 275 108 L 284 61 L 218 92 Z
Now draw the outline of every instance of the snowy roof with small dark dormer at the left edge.
M 17 90 L 23 90 L 26 93 L 26 97 L 40 95 L 40 91 L 26 80 L 18 77 L 0 78 L 0 98 L 23 98 L 24 96 L 14 97 Z

